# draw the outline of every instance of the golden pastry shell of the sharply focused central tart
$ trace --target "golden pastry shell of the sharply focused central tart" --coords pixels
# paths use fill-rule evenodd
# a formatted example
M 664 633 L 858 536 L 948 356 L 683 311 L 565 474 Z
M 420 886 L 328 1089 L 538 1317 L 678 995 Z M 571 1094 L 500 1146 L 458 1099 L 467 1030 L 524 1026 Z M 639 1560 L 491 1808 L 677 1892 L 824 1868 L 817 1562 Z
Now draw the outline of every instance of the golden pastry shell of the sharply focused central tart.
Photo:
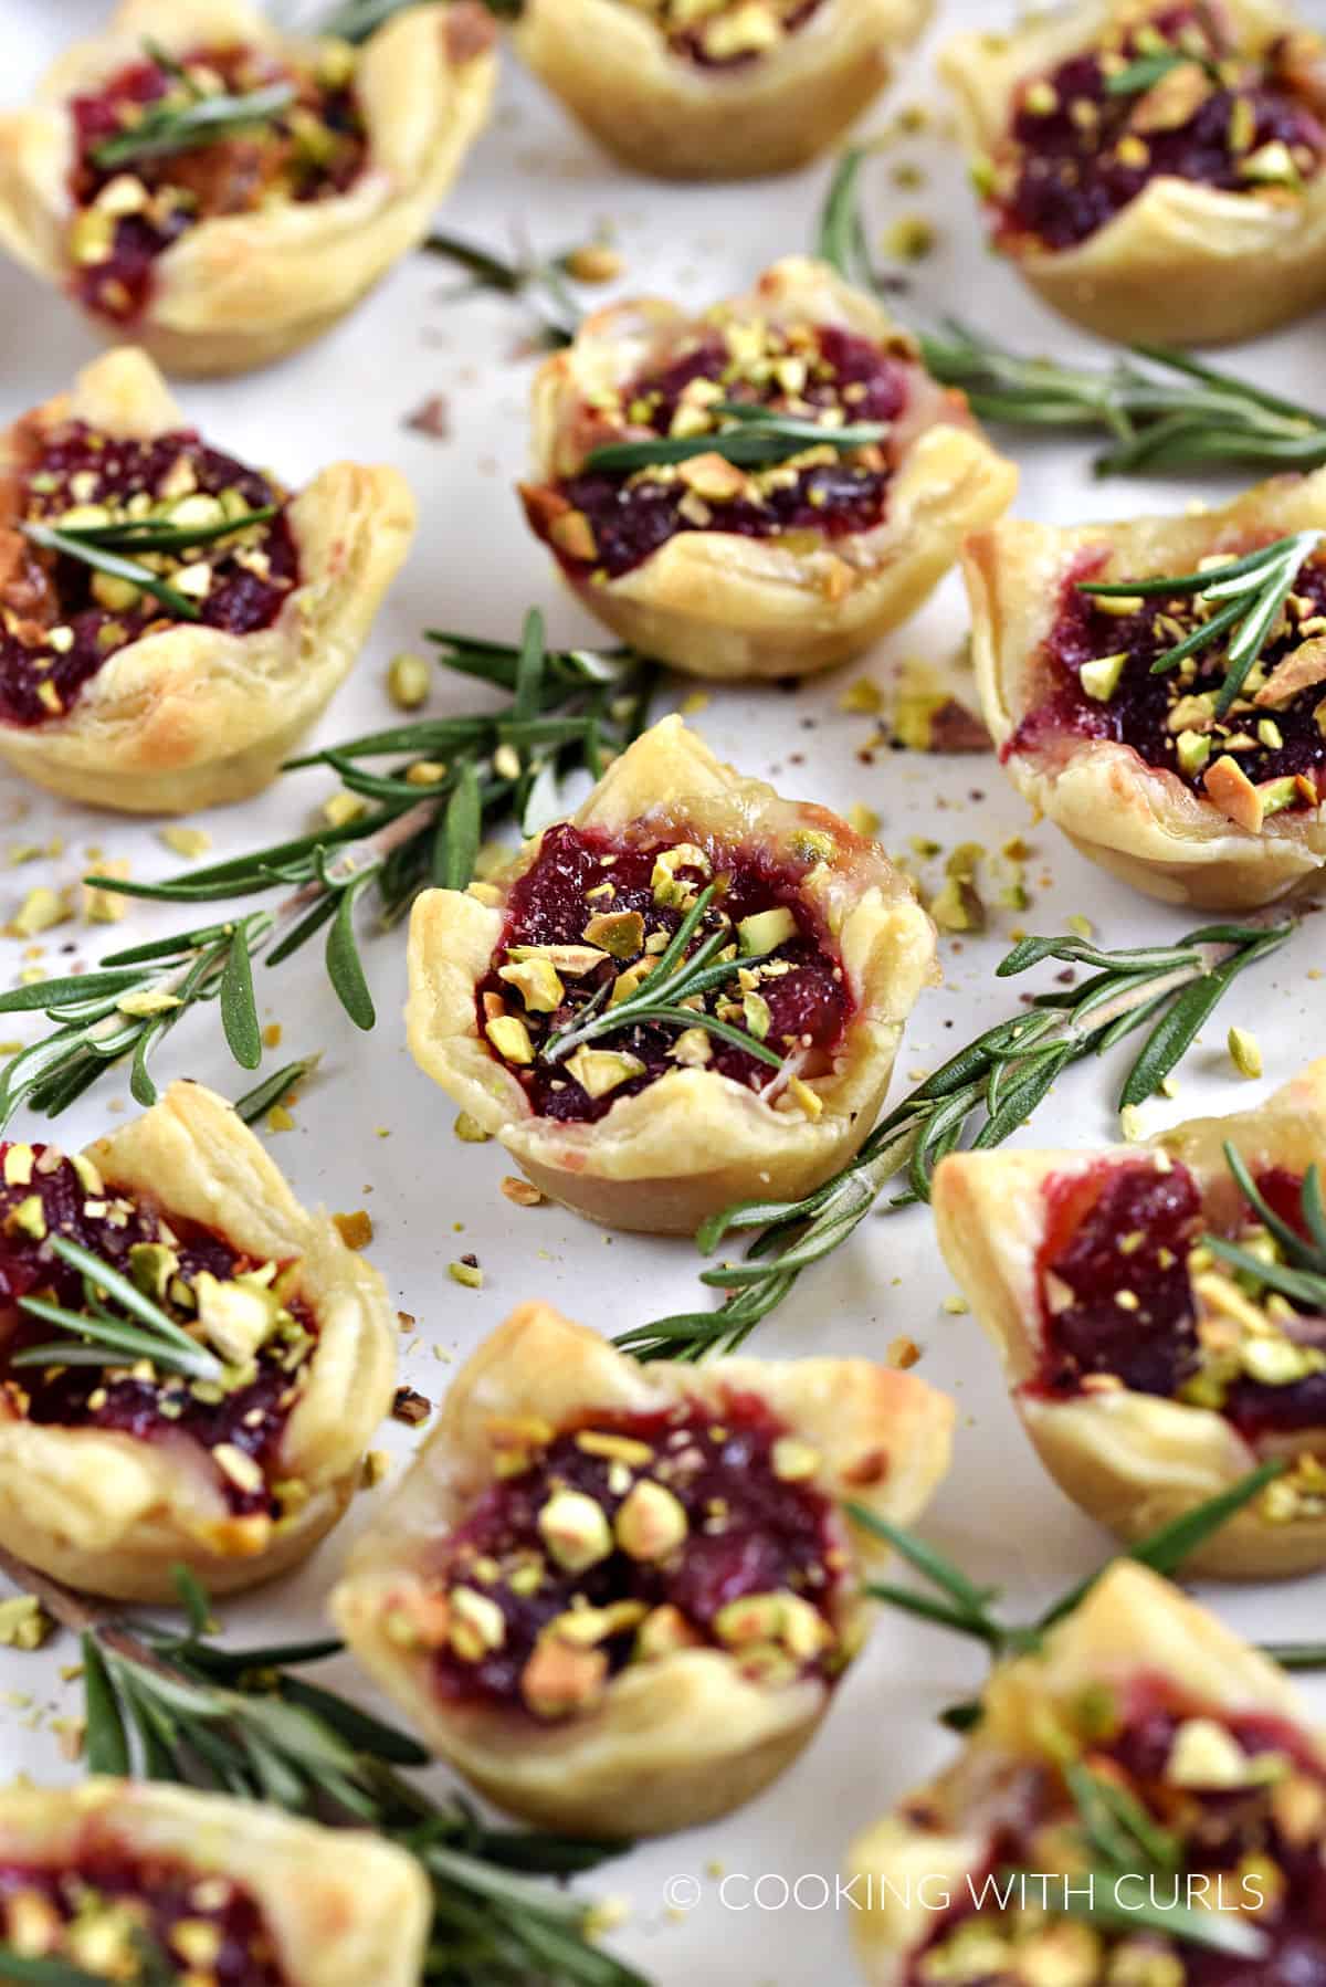
M 712 1069 L 670 1069 L 594 1125 L 535 1117 L 515 1075 L 479 1035 L 475 988 L 501 942 L 505 900 L 541 839 L 491 878 L 499 902 L 425 890 L 410 922 L 406 1033 L 419 1065 L 501 1139 L 543 1192 L 610 1228 L 692 1234 L 706 1214 L 747 1196 L 795 1200 L 857 1150 L 889 1089 L 903 1023 L 936 978 L 934 930 L 885 852 L 837 815 L 781 801 L 722 765 L 664 717 L 608 767 L 571 817 L 579 827 L 674 835 L 787 858 L 797 833 L 833 837 L 803 896 L 837 946 L 857 1011 L 835 1067 L 809 1079 L 811 1121 L 789 1099 L 765 1103 Z

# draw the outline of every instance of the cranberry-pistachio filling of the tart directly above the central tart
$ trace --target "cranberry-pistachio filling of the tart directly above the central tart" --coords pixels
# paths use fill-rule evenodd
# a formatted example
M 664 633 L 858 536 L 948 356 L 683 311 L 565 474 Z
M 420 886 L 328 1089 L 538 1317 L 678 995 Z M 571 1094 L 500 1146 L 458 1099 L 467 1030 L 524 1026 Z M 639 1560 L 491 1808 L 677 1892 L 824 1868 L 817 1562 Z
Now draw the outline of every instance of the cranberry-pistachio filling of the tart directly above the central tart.
M 907 403 L 907 366 L 837 326 L 781 330 L 732 320 L 698 328 L 680 358 L 622 387 L 616 407 L 596 411 L 636 441 L 704 435 L 718 433 L 722 421 L 706 411 L 714 399 L 761 403 L 829 425 L 889 423 Z M 710 453 L 632 475 L 580 473 L 531 491 L 527 513 L 575 578 L 598 572 L 614 580 L 680 531 L 746 538 L 871 531 L 885 515 L 889 475 L 877 445 L 839 453 L 821 443 L 749 471 Z

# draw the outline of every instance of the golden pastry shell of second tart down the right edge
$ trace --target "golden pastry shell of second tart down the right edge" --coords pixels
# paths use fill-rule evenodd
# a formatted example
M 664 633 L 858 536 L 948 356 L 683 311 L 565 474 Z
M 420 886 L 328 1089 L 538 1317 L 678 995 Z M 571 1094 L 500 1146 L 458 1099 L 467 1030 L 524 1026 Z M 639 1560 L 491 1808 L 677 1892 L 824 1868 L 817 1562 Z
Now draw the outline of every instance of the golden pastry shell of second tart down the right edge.
M 962 572 L 976 686 L 1012 783 L 1081 854 L 1163 904 L 1199 910 L 1272 904 L 1326 862 L 1326 813 L 1294 809 L 1250 833 L 1177 773 L 1149 767 L 1131 745 L 1072 731 L 1014 745 L 1022 719 L 1054 689 L 1044 644 L 1064 586 L 1093 552 L 1109 554 L 1111 578 L 1141 580 L 1191 572 L 1209 552 L 1324 529 L 1326 469 L 1318 469 L 1274 477 L 1223 509 L 1191 517 L 1068 531 L 1004 519 L 966 544 Z

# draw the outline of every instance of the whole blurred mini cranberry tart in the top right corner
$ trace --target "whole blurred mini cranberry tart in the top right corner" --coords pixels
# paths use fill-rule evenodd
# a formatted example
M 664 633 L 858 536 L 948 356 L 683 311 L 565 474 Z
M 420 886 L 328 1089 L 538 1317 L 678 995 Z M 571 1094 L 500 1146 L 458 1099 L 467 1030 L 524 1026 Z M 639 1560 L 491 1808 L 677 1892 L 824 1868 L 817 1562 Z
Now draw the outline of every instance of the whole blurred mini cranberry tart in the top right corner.
M 1167 50 L 1197 60 L 1111 93 Z M 1326 40 L 1280 0 L 1077 0 L 940 70 L 996 244 L 1064 316 L 1201 346 L 1326 298 Z

